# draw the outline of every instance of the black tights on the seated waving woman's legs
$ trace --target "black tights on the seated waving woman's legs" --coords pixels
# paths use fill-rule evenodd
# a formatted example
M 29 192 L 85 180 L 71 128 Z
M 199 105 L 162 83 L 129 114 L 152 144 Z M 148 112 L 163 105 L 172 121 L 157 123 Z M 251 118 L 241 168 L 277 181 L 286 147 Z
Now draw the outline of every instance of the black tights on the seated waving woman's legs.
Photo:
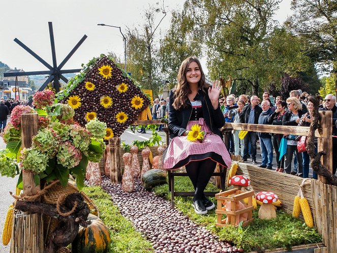
M 193 161 L 187 164 L 186 172 L 192 181 L 195 194 L 193 200 L 203 200 L 204 190 L 209 182 L 217 163 L 211 159 Z

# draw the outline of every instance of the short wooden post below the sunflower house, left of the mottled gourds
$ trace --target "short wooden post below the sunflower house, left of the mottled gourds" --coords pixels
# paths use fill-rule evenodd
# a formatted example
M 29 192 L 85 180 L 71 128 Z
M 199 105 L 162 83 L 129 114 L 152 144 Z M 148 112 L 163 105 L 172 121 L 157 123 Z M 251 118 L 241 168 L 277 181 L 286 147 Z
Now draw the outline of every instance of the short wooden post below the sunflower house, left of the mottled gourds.
M 120 137 L 109 139 L 110 146 L 110 181 L 113 184 L 121 183 Z

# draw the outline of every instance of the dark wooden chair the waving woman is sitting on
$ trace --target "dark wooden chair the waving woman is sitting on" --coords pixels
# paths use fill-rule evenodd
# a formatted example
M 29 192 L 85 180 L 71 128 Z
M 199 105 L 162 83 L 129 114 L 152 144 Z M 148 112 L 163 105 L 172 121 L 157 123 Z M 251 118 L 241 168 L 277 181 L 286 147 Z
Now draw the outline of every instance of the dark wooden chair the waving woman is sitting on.
M 170 136 L 168 127 L 163 127 L 166 133 L 166 144 L 170 143 Z M 219 166 L 219 172 L 213 172 L 212 176 L 220 177 L 220 188 L 221 191 L 225 190 L 227 167 Z M 171 208 L 174 208 L 174 197 L 175 196 L 194 196 L 194 191 L 174 191 L 174 177 L 188 177 L 187 172 L 174 172 L 168 170 L 168 181 L 169 181 L 169 191 L 171 192 Z M 206 191 L 204 192 L 206 196 L 215 196 L 219 191 Z

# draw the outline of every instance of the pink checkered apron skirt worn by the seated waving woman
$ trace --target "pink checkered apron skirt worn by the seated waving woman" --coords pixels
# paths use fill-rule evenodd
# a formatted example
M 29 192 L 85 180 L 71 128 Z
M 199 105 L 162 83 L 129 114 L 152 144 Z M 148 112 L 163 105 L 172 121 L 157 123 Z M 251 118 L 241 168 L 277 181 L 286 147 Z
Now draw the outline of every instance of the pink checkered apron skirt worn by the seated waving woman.
M 176 170 L 191 161 L 208 158 L 229 167 L 232 160 L 220 136 L 209 130 L 203 118 L 200 118 L 199 121 L 189 121 L 186 130 L 191 130 L 195 124 L 199 124 L 201 130 L 205 132 L 203 141 L 201 143 L 199 141 L 190 142 L 187 136 L 174 137 L 167 148 L 164 168 Z

